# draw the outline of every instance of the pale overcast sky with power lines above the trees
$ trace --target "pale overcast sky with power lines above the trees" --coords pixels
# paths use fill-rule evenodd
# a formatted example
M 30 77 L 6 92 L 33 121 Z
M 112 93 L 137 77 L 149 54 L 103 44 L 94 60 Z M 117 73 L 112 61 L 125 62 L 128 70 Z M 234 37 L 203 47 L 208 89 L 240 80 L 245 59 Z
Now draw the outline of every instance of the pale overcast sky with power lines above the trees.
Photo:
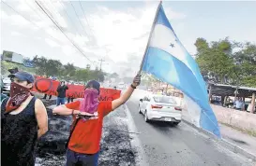
M 34 0 L 5 2 L 29 21 L 1 3 L 1 52 L 45 56 L 79 67 L 94 67 L 102 58 L 103 70 L 122 76 L 139 69 L 158 7 L 158 1 L 40 1 L 89 62 Z M 256 42 L 256 2 L 164 1 L 163 7 L 190 54 L 196 53 L 197 37 Z

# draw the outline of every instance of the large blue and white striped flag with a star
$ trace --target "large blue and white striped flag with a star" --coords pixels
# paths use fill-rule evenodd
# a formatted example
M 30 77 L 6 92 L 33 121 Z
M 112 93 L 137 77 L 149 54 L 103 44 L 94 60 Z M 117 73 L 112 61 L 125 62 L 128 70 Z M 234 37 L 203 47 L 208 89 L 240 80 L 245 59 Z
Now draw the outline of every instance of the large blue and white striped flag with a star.
M 173 32 L 161 3 L 157 12 L 143 59 L 143 71 L 183 91 L 194 124 L 220 137 L 218 120 L 208 103 L 197 63 Z

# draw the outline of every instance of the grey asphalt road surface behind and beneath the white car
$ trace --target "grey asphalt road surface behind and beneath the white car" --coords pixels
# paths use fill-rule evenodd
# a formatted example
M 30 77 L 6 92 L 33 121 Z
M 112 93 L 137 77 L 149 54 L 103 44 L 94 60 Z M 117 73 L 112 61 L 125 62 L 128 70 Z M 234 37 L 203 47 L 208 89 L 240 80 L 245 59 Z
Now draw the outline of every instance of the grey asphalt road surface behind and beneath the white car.
M 143 160 L 158 166 L 242 166 L 254 165 L 234 154 L 203 133 L 181 122 L 177 127 L 165 123 L 145 123 L 138 113 L 139 97 L 133 95 L 128 110 L 143 147 Z

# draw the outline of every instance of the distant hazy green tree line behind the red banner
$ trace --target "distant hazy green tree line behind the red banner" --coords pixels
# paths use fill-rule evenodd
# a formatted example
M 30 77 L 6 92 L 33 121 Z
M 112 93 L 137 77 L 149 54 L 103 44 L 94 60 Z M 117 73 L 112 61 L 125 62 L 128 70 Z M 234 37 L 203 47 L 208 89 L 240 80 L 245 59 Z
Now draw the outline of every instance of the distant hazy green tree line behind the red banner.
M 34 67 L 25 67 L 23 64 L 14 62 L 1 61 L 1 75 L 9 75 L 8 69 L 17 67 L 20 71 L 26 71 L 33 75 L 38 76 L 56 76 L 58 79 L 73 80 L 76 82 L 87 82 L 88 80 L 95 79 L 103 82 L 106 73 L 94 70 L 87 64 L 86 68 L 75 67 L 72 63 L 62 64 L 58 60 L 46 59 L 45 57 L 35 56 L 30 62 L 34 63 Z

